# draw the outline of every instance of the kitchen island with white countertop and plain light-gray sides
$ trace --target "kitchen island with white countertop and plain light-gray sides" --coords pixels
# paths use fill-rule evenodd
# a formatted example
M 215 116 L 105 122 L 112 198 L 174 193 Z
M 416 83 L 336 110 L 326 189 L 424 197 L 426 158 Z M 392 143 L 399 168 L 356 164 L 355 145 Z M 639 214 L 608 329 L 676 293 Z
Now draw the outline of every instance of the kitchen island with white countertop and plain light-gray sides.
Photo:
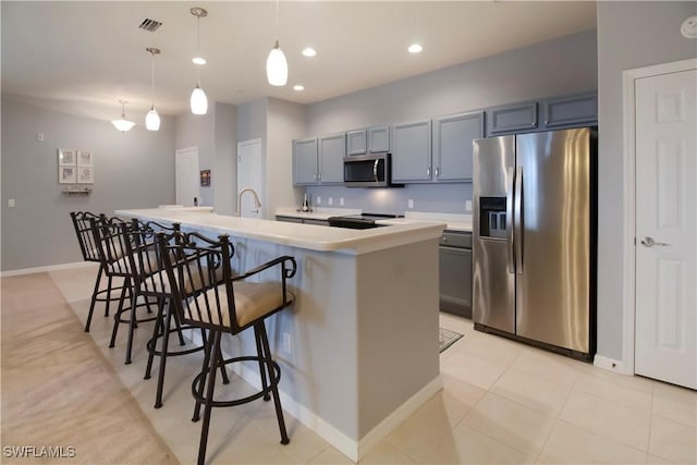
M 117 215 L 229 234 L 241 271 L 295 257 L 296 302 L 267 326 L 283 407 L 353 461 L 442 388 L 438 241 L 445 224 L 348 230 L 176 209 Z M 255 350 L 252 336 L 224 342 L 228 354 Z M 256 367 L 239 374 L 260 384 Z

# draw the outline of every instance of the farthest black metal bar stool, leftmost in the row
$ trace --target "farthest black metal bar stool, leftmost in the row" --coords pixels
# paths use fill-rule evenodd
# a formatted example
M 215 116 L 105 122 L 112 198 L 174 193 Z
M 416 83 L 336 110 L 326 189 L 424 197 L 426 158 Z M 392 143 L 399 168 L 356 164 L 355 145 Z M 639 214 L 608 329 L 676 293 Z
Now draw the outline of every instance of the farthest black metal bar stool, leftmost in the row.
M 99 264 L 99 271 L 97 272 L 97 279 L 95 280 L 95 289 L 91 293 L 91 301 L 89 303 L 89 313 L 87 314 L 87 322 L 85 323 L 85 332 L 89 332 L 89 326 L 91 325 L 91 316 L 95 311 L 95 304 L 97 302 L 105 303 L 105 317 L 109 316 L 109 304 L 117 297 L 112 295 L 112 292 L 121 292 L 121 286 L 112 285 L 112 277 L 107 277 L 107 287 L 101 291 L 101 278 L 105 276 L 105 269 L 101 266 L 101 259 L 99 258 L 98 246 L 95 243 L 95 236 L 91 230 L 90 220 L 95 222 L 106 221 L 107 217 L 101 215 L 91 213 L 89 211 L 71 211 L 71 219 L 73 220 L 73 227 L 75 228 L 75 234 L 77 235 L 77 243 L 80 244 L 80 252 L 83 254 L 85 261 L 94 261 Z

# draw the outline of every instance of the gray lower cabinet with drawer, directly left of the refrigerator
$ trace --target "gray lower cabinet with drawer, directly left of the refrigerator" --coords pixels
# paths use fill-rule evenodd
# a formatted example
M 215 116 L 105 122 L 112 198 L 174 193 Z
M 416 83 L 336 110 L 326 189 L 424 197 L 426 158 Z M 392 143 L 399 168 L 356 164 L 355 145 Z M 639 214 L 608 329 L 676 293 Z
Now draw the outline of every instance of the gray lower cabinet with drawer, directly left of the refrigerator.
M 472 233 L 445 230 L 439 264 L 440 309 L 472 318 Z

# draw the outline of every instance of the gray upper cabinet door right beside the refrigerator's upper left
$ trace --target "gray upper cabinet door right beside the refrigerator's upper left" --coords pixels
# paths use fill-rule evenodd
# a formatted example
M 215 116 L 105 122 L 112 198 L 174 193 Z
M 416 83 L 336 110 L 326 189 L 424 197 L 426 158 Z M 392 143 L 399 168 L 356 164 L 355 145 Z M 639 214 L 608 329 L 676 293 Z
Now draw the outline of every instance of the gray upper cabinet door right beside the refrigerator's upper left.
M 433 180 L 472 181 L 472 142 L 484 137 L 484 112 L 437 118 L 433 126 Z

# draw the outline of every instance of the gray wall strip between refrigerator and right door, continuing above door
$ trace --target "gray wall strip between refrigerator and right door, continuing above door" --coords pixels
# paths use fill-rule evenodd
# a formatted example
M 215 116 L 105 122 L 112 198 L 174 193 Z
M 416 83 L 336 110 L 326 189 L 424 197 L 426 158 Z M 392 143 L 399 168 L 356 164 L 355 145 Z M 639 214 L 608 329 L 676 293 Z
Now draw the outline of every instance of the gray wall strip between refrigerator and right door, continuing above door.
M 680 33 L 696 2 L 598 2 L 598 354 L 621 360 L 623 326 L 622 72 L 697 57 Z M 697 181 L 697 180 L 695 180 Z M 640 186 L 638 186 L 640 188 Z

